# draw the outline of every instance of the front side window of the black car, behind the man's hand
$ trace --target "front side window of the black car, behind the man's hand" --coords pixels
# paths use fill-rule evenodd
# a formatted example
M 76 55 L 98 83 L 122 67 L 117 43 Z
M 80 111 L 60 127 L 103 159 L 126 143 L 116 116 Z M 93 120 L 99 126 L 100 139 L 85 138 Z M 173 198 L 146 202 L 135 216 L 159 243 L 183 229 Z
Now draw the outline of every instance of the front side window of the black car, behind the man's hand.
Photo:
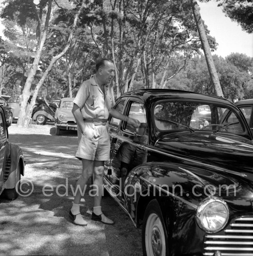
M 127 123 L 124 126 L 124 130 L 137 134 L 139 136 L 144 136 L 147 129 L 147 119 L 144 104 L 138 101 L 131 101 L 127 116 L 133 119 L 137 119 L 141 123 L 141 125 L 136 129 L 132 125 L 129 125 Z

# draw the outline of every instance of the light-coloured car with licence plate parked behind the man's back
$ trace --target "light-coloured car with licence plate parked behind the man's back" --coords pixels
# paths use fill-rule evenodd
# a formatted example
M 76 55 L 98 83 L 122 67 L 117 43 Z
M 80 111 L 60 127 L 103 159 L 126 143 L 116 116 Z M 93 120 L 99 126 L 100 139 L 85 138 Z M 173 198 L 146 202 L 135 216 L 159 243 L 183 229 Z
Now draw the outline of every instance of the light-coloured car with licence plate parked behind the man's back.
M 77 130 L 75 118 L 71 112 L 75 98 L 62 98 L 55 112 L 54 125 L 56 135 L 60 135 L 61 130 Z

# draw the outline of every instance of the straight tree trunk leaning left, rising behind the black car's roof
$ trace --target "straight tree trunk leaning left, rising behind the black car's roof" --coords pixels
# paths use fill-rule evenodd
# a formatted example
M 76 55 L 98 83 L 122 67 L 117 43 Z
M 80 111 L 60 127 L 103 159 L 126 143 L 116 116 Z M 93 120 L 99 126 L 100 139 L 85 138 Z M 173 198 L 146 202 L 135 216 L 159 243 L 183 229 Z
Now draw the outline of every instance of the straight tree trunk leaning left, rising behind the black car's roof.
M 209 47 L 209 44 L 207 41 L 207 35 L 205 32 L 205 28 L 204 28 L 204 25 L 201 20 L 201 15 L 200 15 L 200 11 L 199 11 L 200 8 L 199 8 L 196 0 L 190 0 L 190 3 L 191 3 L 194 18 L 196 21 L 197 29 L 199 32 L 201 45 L 202 45 L 202 48 L 203 48 L 203 51 L 204 51 L 204 54 L 205 54 L 205 57 L 207 60 L 207 67 L 208 67 L 208 71 L 209 71 L 209 74 L 211 77 L 211 81 L 213 83 L 214 92 L 217 96 L 224 97 L 220 83 L 219 83 L 219 77 L 217 75 L 217 72 L 216 72 L 216 69 L 215 69 L 215 66 L 213 63 L 213 57 L 212 57 L 211 50 L 210 50 L 210 47 Z

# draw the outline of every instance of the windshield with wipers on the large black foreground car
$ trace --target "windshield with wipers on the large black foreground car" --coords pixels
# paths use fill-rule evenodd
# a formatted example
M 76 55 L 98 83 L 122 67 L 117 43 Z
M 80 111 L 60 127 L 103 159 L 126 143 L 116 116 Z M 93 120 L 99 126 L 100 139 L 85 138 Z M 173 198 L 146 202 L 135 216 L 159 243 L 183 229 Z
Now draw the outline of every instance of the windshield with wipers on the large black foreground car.
M 155 105 L 155 126 L 158 130 L 194 130 L 245 133 L 240 114 L 228 107 L 193 101 L 162 101 Z

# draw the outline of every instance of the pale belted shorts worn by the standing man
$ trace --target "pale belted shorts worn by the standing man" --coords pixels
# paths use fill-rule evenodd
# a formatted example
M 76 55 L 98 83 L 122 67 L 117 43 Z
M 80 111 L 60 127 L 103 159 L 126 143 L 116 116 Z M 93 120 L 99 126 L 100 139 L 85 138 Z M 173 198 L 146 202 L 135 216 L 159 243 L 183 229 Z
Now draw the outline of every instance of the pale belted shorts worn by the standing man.
M 106 161 L 110 158 L 110 137 L 106 125 L 85 123 L 83 134 L 77 126 L 78 148 L 75 157 L 79 160 Z

